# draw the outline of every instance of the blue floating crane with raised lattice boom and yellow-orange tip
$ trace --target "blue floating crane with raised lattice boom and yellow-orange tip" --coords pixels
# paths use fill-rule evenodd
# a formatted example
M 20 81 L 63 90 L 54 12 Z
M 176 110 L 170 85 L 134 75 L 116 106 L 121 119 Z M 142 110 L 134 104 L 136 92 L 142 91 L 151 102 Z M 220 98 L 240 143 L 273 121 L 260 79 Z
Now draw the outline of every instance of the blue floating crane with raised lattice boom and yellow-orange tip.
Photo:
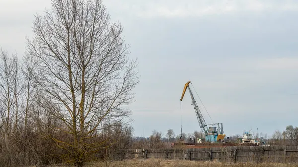
M 192 100 L 191 105 L 194 106 L 195 113 L 196 113 L 200 128 L 205 134 L 205 141 L 214 143 L 214 142 L 217 142 L 219 140 L 224 140 L 225 134 L 224 134 L 224 131 L 223 131 L 223 123 L 206 124 L 205 119 L 204 119 L 204 117 L 203 117 L 203 115 L 200 111 L 200 108 L 199 108 L 199 106 L 198 106 L 198 104 L 197 104 L 197 102 L 194 98 L 194 95 L 193 95 L 193 93 L 192 93 L 192 91 L 189 87 L 189 83 L 190 83 L 190 81 L 188 81 L 185 84 L 183 92 L 182 92 L 182 96 L 180 98 L 180 101 L 182 101 L 182 99 L 184 97 L 184 94 L 186 92 L 186 89 L 188 89 L 191 100 Z M 214 126 L 216 124 L 218 126 L 217 128 L 216 127 L 209 127 L 208 128 L 208 125 L 213 125 Z

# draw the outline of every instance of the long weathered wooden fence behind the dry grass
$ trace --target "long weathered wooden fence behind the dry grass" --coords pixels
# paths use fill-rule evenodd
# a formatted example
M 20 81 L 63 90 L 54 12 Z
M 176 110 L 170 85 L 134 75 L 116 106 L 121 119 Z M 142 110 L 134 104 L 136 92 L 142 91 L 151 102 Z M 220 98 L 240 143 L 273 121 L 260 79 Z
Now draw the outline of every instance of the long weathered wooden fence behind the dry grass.
M 240 163 L 298 163 L 298 146 L 233 146 L 191 149 L 136 149 L 112 154 L 113 160 L 162 158 Z

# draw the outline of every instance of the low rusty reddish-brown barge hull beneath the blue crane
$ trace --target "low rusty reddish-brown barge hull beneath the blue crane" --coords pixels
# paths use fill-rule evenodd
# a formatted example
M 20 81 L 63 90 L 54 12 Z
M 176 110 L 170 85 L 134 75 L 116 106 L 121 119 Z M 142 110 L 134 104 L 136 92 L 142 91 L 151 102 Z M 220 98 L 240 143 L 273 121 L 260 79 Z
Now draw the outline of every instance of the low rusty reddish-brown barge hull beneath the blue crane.
M 258 146 L 255 143 L 172 143 L 172 148 L 214 148 L 231 146 Z

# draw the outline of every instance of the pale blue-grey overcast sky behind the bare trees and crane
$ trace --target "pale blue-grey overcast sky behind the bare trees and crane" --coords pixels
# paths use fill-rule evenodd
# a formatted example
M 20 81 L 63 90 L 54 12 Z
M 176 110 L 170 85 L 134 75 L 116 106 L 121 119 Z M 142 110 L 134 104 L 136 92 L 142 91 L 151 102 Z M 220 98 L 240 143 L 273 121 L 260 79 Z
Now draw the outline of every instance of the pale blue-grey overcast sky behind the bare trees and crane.
M 297 0 L 103 2 L 139 61 L 141 82 L 131 105 L 136 136 L 154 129 L 180 133 L 179 99 L 189 80 L 228 136 L 250 127 L 272 135 L 298 126 Z M 46 7 L 49 0 L 0 0 L 0 47 L 22 55 L 33 14 Z M 185 133 L 200 130 L 190 103 L 186 92 Z

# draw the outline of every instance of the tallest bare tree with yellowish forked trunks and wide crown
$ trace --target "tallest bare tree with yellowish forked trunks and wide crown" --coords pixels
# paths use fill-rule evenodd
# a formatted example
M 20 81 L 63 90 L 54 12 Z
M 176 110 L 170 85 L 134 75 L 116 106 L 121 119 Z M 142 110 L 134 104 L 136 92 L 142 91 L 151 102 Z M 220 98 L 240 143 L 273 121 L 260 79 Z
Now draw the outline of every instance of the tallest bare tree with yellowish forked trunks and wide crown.
M 123 28 L 110 22 L 101 0 L 52 0 L 52 10 L 35 17 L 33 31 L 27 50 L 38 61 L 36 89 L 60 108 L 49 112 L 67 127 L 60 132 L 72 136 L 52 139 L 69 163 L 83 166 L 103 148 L 103 141 L 91 139 L 131 114 L 123 106 L 133 102 L 136 60 L 129 59 Z

